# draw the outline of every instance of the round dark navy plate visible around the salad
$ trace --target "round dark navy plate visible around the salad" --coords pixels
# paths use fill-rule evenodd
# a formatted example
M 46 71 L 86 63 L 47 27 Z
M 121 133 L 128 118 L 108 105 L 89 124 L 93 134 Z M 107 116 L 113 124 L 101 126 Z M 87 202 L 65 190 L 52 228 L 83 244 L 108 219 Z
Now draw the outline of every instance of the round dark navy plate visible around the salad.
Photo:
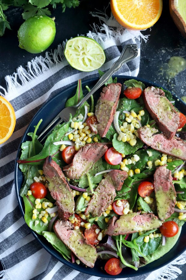
M 142 81 L 146 87 L 148 86 L 155 86 L 155 87 L 161 87 L 160 85 L 153 84 L 149 81 L 141 80 L 136 77 L 128 77 L 128 76 L 118 76 L 117 81 L 120 83 L 124 83 L 125 80 L 129 80 L 134 78 L 135 80 Z M 87 90 L 85 89 L 85 86 L 88 85 L 90 88 L 92 88 L 98 78 L 93 78 L 91 80 L 83 81 L 82 82 L 82 89 L 84 92 L 87 93 Z M 54 98 L 49 100 L 39 111 L 38 113 L 33 117 L 31 120 L 29 126 L 27 127 L 21 143 L 19 145 L 16 160 L 19 159 L 21 154 L 21 144 L 27 140 L 30 140 L 30 137 L 27 136 L 28 132 L 34 132 L 34 126 L 39 122 L 39 120 L 42 118 L 43 122 L 41 123 L 39 129 L 38 129 L 38 135 L 41 133 L 44 128 L 50 123 L 53 118 L 61 111 L 61 109 L 64 108 L 65 102 L 68 98 L 73 96 L 76 92 L 77 84 L 68 87 L 66 90 L 63 90 L 62 92 L 58 93 Z M 94 96 L 99 96 L 101 90 L 98 90 Z M 179 111 L 182 111 L 183 113 L 186 111 L 186 105 L 185 103 L 179 99 L 177 96 L 173 94 L 173 98 L 176 100 L 175 105 L 179 109 Z M 49 114 L 50 112 L 50 114 Z M 22 172 L 19 169 L 19 165 L 15 164 L 15 188 L 16 188 L 16 196 L 19 204 L 19 208 L 22 212 L 22 215 L 24 217 L 24 203 L 22 200 L 22 197 L 19 196 L 19 190 L 22 186 L 23 176 Z M 53 257 L 55 257 L 57 260 L 61 261 L 62 263 L 66 264 L 67 266 L 70 266 L 73 269 L 76 269 L 80 272 L 84 272 L 90 275 L 95 275 L 98 277 L 109 277 L 109 278 L 116 278 L 116 276 L 108 275 L 104 271 L 104 264 L 105 261 L 97 260 L 95 263 L 94 268 L 85 267 L 83 264 L 77 265 L 76 263 L 70 263 L 67 260 L 65 260 L 61 254 L 59 254 L 53 247 L 50 245 L 46 239 L 32 231 L 32 234 L 35 236 L 35 238 L 38 240 L 38 242 L 41 244 L 43 248 L 46 249 Z M 159 258 L 158 260 L 155 260 L 154 262 L 150 263 L 149 265 L 146 265 L 144 267 L 139 268 L 137 271 L 131 268 L 125 268 L 122 270 L 122 272 L 117 275 L 117 278 L 127 278 L 132 276 L 139 276 L 143 275 L 148 272 L 152 272 L 168 263 L 170 263 L 172 260 L 176 259 L 180 254 L 182 254 L 186 249 L 186 224 L 182 227 L 182 232 L 179 237 L 179 240 L 177 241 L 176 245 L 163 257 Z

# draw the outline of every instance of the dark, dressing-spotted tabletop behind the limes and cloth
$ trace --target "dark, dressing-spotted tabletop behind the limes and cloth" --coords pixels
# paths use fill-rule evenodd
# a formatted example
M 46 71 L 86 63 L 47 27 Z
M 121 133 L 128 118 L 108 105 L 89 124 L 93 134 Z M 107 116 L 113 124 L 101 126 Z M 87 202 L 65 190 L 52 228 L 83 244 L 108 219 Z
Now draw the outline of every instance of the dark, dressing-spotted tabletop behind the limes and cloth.
M 158 22 L 151 29 L 142 32 L 144 35 L 150 36 L 146 43 L 142 40 L 138 78 L 152 81 L 173 91 L 178 96 L 183 96 L 186 95 L 186 70 L 170 81 L 162 72 L 162 68 L 168 63 L 170 57 L 182 56 L 186 59 L 186 39 L 170 17 L 168 2 L 168 0 L 163 1 L 163 12 Z M 89 11 L 96 11 L 96 9 L 104 11 L 108 7 L 107 14 L 109 15 L 110 7 L 108 5 L 108 0 L 82 0 L 78 8 L 66 9 L 65 13 L 61 13 L 61 8 L 52 11 L 52 17 L 55 17 L 56 23 L 56 36 L 47 51 L 54 50 L 66 38 L 85 35 L 91 30 L 94 22 L 99 24 L 99 20 L 92 17 Z M 4 36 L 0 37 L 0 85 L 2 87 L 6 87 L 4 80 L 6 75 L 13 74 L 20 65 L 25 68 L 27 62 L 37 56 L 18 47 L 17 30 L 23 22 L 21 13 L 19 8 L 10 8 L 6 11 L 12 30 L 6 30 Z M 41 55 L 44 56 L 44 53 Z M 178 267 L 182 270 L 182 274 L 177 279 L 183 280 L 186 266 Z

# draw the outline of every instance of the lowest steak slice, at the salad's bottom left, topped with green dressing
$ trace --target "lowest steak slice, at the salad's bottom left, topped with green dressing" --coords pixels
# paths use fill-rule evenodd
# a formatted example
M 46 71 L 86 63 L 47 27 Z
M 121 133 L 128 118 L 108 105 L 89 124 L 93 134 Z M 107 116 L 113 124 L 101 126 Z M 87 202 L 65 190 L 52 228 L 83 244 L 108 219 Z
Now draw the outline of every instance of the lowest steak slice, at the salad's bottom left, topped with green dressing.
M 96 248 L 86 242 L 81 231 L 74 230 L 70 221 L 56 221 L 53 226 L 57 237 L 82 261 L 89 267 L 94 267 L 97 259 Z

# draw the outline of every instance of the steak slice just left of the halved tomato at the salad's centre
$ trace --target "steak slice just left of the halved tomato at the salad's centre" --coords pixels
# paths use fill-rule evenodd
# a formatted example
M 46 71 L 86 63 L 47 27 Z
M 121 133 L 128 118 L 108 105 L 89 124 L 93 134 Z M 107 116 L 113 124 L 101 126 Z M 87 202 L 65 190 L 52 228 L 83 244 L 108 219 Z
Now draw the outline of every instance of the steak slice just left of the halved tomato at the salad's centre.
M 65 175 L 70 179 L 78 179 L 108 150 L 104 143 L 91 143 L 80 148 L 72 163 L 63 167 Z

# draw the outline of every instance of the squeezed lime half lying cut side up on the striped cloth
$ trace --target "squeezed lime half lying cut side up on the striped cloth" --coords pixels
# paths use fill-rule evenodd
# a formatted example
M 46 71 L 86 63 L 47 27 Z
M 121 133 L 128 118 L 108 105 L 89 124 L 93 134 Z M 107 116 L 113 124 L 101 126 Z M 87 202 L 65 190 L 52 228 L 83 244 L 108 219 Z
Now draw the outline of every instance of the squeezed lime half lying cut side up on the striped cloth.
M 64 56 L 75 69 L 90 72 L 100 68 L 105 62 L 103 48 L 88 37 L 75 37 L 67 41 Z

